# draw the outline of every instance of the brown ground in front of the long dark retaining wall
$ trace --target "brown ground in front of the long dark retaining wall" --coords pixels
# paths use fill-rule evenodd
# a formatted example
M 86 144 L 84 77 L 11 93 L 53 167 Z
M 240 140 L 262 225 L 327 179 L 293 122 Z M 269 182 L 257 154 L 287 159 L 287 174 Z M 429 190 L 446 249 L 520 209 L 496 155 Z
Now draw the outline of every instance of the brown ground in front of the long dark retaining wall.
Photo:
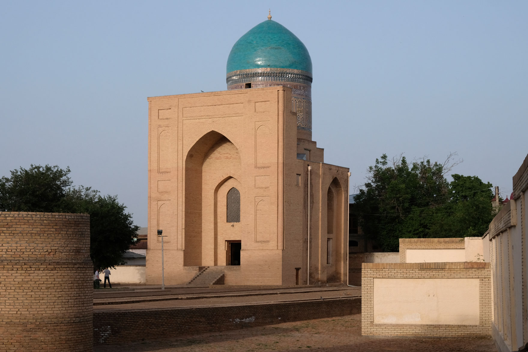
M 361 314 L 286 322 L 240 330 L 94 346 L 95 352 L 445 351 L 496 352 L 491 338 L 379 338 L 361 336 Z

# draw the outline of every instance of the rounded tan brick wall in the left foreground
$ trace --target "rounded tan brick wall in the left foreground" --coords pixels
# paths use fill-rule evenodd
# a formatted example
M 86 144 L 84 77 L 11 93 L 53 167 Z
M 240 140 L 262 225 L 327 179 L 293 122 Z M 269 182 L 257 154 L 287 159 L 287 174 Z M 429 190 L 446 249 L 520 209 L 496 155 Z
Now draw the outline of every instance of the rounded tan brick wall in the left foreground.
M 90 217 L 0 212 L 0 350 L 92 350 Z

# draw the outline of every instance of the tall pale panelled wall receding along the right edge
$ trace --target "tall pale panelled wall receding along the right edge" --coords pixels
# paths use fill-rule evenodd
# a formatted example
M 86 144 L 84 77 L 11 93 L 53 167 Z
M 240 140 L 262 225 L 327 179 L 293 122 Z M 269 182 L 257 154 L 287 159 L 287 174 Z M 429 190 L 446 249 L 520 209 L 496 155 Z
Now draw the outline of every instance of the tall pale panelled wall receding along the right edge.
M 501 352 L 516 351 L 528 344 L 527 193 L 528 156 L 513 176 L 510 202 L 484 235 L 492 264 L 492 336 Z

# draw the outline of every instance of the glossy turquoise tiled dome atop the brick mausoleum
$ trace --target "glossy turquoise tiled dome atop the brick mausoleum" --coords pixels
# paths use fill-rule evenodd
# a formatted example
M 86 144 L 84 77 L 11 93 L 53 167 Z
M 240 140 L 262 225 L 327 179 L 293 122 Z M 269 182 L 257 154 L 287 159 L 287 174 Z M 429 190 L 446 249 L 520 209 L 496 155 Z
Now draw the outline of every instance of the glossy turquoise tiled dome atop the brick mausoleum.
M 295 34 L 272 20 L 257 24 L 234 43 L 227 72 L 261 68 L 303 70 L 312 73 L 310 54 Z

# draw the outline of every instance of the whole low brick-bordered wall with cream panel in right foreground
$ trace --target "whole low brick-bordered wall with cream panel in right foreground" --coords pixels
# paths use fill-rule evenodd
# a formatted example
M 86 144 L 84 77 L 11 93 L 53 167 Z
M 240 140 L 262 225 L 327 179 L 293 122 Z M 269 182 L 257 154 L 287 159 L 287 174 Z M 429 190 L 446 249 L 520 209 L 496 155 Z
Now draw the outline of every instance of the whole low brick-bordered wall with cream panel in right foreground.
M 489 336 L 489 263 L 364 263 L 362 335 Z

